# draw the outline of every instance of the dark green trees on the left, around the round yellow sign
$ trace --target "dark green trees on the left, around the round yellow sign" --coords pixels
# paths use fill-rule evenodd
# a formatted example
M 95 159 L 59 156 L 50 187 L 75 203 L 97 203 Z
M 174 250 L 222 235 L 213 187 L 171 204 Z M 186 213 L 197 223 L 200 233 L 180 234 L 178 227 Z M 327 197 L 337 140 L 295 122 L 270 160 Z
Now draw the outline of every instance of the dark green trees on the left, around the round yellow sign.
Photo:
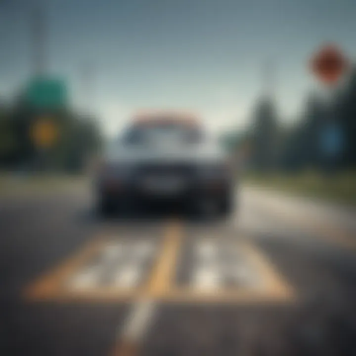
M 58 139 L 40 149 L 31 137 L 31 127 L 45 115 L 56 123 Z M 92 117 L 68 110 L 41 112 L 18 102 L 0 109 L 0 167 L 26 170 L 78 171 L 87 156 L 101 145 L 101 133 Z

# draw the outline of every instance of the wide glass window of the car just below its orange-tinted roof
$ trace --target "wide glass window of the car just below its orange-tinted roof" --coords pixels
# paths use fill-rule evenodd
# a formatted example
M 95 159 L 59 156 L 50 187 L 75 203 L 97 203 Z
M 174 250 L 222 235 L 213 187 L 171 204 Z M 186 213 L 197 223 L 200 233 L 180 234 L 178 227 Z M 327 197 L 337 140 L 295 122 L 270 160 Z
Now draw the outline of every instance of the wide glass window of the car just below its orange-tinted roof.
M 198 127 L 176 122 L 135 124 L 124 134 L 124 142 L 128 144 L 186 144 L 198 143 L 202 138 L 203 133 Z

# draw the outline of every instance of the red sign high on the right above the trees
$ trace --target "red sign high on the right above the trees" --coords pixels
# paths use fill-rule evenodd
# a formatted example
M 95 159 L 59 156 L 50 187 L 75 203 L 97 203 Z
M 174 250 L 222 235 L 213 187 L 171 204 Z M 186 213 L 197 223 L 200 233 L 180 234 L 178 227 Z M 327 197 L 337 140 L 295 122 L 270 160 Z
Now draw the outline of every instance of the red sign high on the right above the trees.
M 336 45 L 326 45 L 312 57 L 311 67 L 320 81 L 332 85 L 345 72 L 348 61 Z

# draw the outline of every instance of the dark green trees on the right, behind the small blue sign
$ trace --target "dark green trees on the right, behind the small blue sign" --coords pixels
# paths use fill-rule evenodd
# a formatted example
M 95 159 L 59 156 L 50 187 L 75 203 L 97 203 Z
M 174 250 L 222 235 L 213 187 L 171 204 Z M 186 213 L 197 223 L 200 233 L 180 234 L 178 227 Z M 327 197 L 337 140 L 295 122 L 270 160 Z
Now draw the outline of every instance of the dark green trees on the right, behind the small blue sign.
M 323 151 L 320 136 L 330 124 L 342 133 L 338 154 Z M 356 66 L 348 81 L 328 101 L 309 94 L 297 122 L 280 126 L 273 101 L 261 98 L 252 113 L 251 126 L 240 136 L 249 136 L 251 154 L 247 166 L 257 172 L 270 170 L 330 172 L 356 167 Z

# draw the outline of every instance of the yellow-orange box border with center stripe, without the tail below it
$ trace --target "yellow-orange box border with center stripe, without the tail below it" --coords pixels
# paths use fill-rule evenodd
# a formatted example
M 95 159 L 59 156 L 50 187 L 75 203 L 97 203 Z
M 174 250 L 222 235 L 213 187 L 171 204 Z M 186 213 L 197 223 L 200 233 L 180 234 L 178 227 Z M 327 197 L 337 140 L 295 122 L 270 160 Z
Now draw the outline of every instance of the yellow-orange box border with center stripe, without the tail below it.
M 255 271 L 260 281 L 255 285 L 245 284 L 232 289 L 204 291 L 175 284 L 178 254 L 182 244 L 182 226 L 179 222 L 168 223 L 160 253 L 152 271 L 148 271 L 146 283 L 138 287 L 123 288 L 113 285 L 80 289 L 66 287 L 66 282 L 96 256 L 112 239 L 95 239 L 84 249 L 66 260 L 59 267 L 32 283 L 25 290 L 27 300 L 51 300 L 57 302 L 136 302 L 147 299 L 183 303 L 254 304 L 290 302 L 295 299 L 293 288 L 273 267 L 265 254 L 253 243 L 236 240 L 235 248 L 243 251 L 246 263 Z M 219 237 L 217 237 L 219 238 Z M 247 266 L 247 267 L 249 267 Z

